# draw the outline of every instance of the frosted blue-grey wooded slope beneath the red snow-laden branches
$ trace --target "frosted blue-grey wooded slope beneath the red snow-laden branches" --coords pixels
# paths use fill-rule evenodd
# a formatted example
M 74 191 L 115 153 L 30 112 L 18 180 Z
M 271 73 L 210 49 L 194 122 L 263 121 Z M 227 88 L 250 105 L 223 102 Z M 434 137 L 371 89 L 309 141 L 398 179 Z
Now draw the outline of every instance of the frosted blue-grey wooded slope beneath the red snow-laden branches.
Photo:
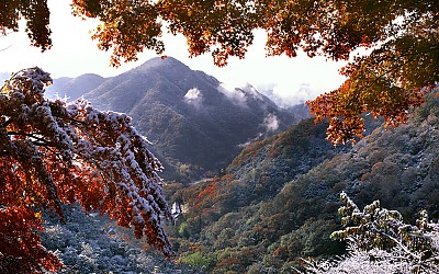
M 177 265 L 155 250 L 134 244 L 133 231 L 122 236 L 122 228 L 106 216 L 87 215 L 78 206 L 65 206 L 64 212 L 66 224 L 59 224 L 58 216 L 46 215 L 42 237 L 44 247 L 58 254 L 67 266 L 60 273 L 200 272 L 199 267 Z

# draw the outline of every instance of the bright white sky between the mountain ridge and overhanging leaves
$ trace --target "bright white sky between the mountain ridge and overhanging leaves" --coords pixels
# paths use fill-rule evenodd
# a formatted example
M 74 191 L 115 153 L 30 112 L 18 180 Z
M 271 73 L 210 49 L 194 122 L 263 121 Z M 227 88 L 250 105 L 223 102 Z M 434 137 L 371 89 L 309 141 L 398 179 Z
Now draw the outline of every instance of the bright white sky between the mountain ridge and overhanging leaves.
M 97 73 L 103 77 L 116 76 L 155 57 L 153 52 L 139 55 L 137 62 L 123 64 L 119 69 L 109 66 L 109 53 L 98 49 L 91 41 L 89 31 L 97 21 L 81 21 L 70 12 L 71 0 L 48 0 L 50 8 L 50 28 L 53 47 L 42 54 L 33 48 L 24 32 L 11 33 L 0 37 L 0 71 L 16 71 L 22 68 L 38 66 L 50 72 L 54 78 L 77 77 L 82 73 Z M 24 28 L 24 27 L 23 27 Z M 300 92 L 306 84 L 313 90 L 311 96 L 330 91 L 340 85 L 344 78 L 338 69 L 344 64 L 326 61 L 324 58 L 308 58 L 300 54 L 296 58 L 266 57 L 264 33 L 258 32 L 244 60 L 230 59 L 225 68 L 213 65 L 212 56 L 206 54 L 189 58 L 184 37 L 165 35 L 168 56 L 184 62 L 192 69 L 203 70 L 219 81 L 233 84 L 249 82 L 258 89 L 273 87 L 274 93 L 285 99 L 303 99 L 309 94 Z M 306 99 L 306 98 L 305 98 Z

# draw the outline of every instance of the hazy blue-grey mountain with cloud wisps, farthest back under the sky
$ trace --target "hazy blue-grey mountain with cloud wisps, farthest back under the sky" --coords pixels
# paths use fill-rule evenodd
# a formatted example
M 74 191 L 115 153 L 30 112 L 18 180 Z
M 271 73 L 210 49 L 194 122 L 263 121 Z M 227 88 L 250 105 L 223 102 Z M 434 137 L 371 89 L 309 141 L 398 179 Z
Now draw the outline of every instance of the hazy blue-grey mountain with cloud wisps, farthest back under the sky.
M 304 105 L 281 109 L 250 84 L 228 88 L 172 57 L 153 58 L 111 78 L 55 79 L 47 94 L 56 93 L 131 115 L 165 163 L 165 179 L 209 175 L 225 168 L 246 144 L 307 116 Z

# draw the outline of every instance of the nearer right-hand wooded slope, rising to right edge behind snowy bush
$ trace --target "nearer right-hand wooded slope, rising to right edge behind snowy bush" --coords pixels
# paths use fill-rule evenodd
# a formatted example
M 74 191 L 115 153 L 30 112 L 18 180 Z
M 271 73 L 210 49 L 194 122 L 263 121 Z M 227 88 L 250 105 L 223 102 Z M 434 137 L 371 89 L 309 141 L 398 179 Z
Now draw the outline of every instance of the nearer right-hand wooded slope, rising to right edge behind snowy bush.
M 301 255 L 337 252 L 329 233 L 339 227 L 341 191 L 362 208 L 375 199 L 412 220 L 420 209 L 439 217 L 439 101 L 430 98 L 410 123 L 382 127 L 347 153 L 337 155 L 286 184 L 247 221 L 259 239 L 270 239 L 262 269 L 288 270 Z M 236 226 L 236 224 L 235 224 Z M 240 236 L 237 236 L 239 239 Z

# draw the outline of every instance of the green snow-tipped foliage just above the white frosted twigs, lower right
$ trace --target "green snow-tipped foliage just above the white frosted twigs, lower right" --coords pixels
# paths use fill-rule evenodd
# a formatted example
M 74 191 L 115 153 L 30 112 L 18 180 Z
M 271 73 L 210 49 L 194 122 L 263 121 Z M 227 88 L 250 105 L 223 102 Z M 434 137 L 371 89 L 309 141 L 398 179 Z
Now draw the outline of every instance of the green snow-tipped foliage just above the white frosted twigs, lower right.
M 330 235 L 334 240 L 351 239 L 362 250 L 374 248 L 391 251 L 398 244 L 404 246 L 413 253 L 425 258 L 434 252 L 429 233 L 437 229 L 421 210 L 416 219 L 416 226 L 407 225 L 397 210 L 382 208 L 380 201 L 364 206 L 361 212 L 358 206 L 342 192 L 342 206 L 338 209 L 341 216 L 342 230 Z

